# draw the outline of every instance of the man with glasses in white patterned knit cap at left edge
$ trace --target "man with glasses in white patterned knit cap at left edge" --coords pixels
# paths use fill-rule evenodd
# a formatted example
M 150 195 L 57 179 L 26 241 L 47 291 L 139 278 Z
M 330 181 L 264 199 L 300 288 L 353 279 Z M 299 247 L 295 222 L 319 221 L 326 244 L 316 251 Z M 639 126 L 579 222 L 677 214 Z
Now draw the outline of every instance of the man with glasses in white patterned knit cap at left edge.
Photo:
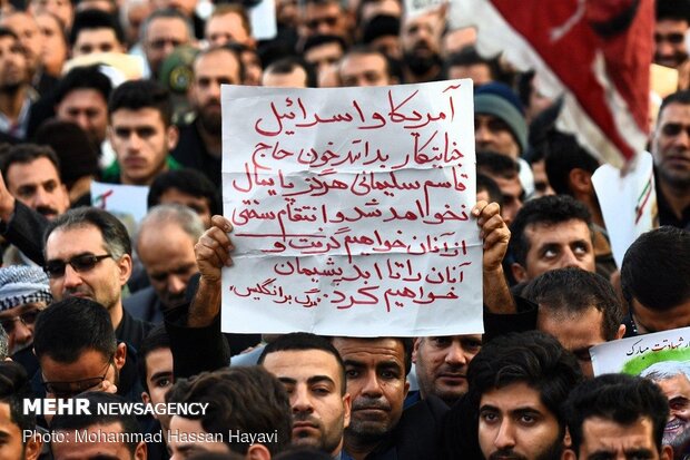
M 12 359 L 29 375 L 38 369 L 31 352 L 36 317 L 51 300 L 48 277 L 41 268 L 22 265 L 0 268 L 0 325 L 7 332 Z

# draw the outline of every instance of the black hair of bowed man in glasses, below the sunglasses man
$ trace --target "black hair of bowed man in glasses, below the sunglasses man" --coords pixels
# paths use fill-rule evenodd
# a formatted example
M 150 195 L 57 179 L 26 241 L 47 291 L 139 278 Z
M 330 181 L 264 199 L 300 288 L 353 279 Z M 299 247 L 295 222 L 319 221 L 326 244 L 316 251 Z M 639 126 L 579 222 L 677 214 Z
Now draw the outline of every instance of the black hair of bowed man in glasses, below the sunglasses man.
M 36 358 L 73 363 L 87 350 L 106 359 L 117 350 L 110 315 L 101 304 L 69 296 L 39 313 L 33 333 Z

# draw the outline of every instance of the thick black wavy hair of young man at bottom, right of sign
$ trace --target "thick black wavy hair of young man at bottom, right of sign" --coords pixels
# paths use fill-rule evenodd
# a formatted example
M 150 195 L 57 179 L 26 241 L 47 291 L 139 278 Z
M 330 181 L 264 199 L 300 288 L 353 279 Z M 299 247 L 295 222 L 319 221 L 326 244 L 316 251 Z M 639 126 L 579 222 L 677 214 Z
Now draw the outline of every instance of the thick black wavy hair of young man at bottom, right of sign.
M 539 331 L 510 333 L 486 343 L 472 359 L 467 394 L 479 408 L 487 391 L 524 383 L 540 393 L 541 402 L 564 431 L 561 403 L 582 379 L 575 356 L 551 335 Z

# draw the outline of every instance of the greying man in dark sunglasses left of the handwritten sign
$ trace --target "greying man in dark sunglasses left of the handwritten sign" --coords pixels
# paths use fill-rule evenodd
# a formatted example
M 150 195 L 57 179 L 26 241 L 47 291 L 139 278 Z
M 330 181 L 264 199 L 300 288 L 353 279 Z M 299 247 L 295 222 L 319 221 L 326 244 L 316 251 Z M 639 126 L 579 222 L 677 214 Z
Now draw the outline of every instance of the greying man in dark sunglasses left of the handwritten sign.
M 83 297 L 102 305 L 119 341 L 138 348 L 151 329 L 122 307 L 131 274 L 131 243 L 125 226 L 93 207 L 70 209 L 46 229 L 46 273 L 56 301 Z

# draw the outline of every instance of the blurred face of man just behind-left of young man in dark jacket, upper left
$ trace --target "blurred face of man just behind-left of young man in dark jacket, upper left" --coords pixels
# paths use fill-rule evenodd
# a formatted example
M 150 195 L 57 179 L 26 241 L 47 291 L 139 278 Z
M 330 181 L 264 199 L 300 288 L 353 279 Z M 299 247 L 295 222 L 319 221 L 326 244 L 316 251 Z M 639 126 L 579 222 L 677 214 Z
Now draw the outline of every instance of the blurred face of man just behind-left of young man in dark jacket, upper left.
M 106 140 L 108 130 L 108 101 L 96 89 L 81 88 L 69 91 L 56 106 L 58 119 L 71 121 L 89 136 L 93 145 Z

